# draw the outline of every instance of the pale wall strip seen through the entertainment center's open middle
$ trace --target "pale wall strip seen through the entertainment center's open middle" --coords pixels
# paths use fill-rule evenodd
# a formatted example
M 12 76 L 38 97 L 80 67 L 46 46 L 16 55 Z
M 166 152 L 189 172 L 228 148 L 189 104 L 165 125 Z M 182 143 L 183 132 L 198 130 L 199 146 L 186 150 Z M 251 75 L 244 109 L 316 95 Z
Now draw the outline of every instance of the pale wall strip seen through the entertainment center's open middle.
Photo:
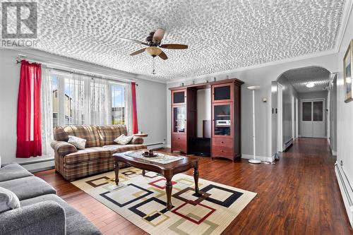
M 197 90 L 196 100 L 197 137 L 203 137 L 203 120 L 211 120 L 211 89 Z

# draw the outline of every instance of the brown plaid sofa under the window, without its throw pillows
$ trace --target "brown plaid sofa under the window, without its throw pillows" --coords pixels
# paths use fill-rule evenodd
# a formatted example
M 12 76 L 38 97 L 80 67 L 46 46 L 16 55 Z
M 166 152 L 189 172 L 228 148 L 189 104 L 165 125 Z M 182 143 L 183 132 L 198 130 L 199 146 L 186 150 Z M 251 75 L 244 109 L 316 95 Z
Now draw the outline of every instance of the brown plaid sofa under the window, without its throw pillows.
M 54 128 L 55 169 L 68 181 L 114 169 L 113 153 L 145 149 L 143 138 L 134 136 L 127 145 L 117 145 L 115 138 L 127 135 L 125 125 L 75 125 Z M 85 149 L 67 143 L 68 135 L 86 140 Z M 121 164 L 120 167 L 126 167 Z

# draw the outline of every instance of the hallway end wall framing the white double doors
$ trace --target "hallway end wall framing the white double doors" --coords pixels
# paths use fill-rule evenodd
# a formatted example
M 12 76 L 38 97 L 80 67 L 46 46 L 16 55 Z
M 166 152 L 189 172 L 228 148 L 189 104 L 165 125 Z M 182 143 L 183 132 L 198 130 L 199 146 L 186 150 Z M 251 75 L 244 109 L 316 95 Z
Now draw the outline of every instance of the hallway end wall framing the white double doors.
M 299 136 L 301 135 L 301 100 L 311 100 L 311 99 L 325 99 L 324 102 L 324 107 L 323 109 L 326 110 L 328 108 L 328 91 L 323 90 L 323 91 L 317 91 L 317 92 L 302 92 L 298 93 L 299 96 L 299 104 L 298 104 L 298 117 L 299 117 L 299 123 L 298 123 L 298 133 Z M 327 112 L 324 111 L 323 113 L 324 119 L 325 119 L 325 136 L 327 136 L 328 130 L 327 130 Z

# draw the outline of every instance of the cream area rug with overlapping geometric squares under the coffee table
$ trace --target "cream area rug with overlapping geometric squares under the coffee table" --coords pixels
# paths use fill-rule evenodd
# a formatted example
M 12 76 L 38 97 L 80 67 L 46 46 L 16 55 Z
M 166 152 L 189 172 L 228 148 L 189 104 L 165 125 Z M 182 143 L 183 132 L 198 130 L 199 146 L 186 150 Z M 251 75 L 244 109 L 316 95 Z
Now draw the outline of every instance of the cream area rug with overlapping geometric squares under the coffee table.
M 200 193 L 194 195 L 193 176 L 177 174 L 172 183 L 172 210 L 166 209 L 164 177 L 134 167 L 119 170 L 119 186 L 114 171 L 73 181 L 91 195 L 149 234 L 220 234 L 256 193 L 204 179 L 198 180 Z

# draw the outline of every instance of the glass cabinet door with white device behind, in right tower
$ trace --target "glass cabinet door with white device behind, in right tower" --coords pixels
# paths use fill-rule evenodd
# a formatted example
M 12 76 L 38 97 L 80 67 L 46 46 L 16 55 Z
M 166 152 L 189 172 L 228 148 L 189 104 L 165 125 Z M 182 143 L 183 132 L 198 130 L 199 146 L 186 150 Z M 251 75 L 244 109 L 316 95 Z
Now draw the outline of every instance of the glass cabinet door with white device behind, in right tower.
M 231 137 L 232 103 L 213 104 L 213 135 Z

